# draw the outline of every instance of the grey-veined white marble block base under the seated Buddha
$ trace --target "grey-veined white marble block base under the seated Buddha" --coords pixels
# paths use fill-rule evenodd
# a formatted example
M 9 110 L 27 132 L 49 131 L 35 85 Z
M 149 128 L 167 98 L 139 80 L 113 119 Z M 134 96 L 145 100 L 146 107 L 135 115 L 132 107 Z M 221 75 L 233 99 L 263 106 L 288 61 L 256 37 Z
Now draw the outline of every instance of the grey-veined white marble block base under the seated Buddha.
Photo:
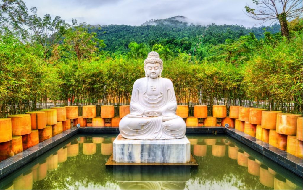
M 119 134 L 113 142 L 113 159 L 118 163 L 186 163 L 190 142 L 182 139 L 134 140 Z

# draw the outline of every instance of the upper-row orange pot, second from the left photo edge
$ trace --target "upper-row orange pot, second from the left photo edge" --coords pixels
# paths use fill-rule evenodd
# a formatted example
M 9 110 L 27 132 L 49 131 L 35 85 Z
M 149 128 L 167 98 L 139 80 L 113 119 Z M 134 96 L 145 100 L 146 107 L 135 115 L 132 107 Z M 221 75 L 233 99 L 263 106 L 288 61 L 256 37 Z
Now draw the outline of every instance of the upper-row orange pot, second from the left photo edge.
M 26 135 L 32 132 L 31 115 L 18 114 L 7 116 L 12 120 L 12 135 Z

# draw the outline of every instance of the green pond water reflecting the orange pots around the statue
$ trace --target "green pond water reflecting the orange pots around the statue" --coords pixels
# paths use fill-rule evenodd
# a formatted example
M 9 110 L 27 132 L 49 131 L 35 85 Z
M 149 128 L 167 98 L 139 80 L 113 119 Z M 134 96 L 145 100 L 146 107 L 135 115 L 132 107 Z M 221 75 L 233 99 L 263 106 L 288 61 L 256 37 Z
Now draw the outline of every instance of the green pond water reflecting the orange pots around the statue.
M 302 189 L 302 178 L 228 136 L 187 136 L 198 166 L 105 166 L 116 135 L 75 136 L 1 189 Z

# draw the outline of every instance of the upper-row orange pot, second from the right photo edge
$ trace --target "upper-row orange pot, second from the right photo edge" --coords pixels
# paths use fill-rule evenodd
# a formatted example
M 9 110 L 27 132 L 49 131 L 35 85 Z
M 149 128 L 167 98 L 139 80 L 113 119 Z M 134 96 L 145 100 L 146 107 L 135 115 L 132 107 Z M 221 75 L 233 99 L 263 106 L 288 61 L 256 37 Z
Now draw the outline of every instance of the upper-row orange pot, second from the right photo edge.
M 301 115 L 291 113 L 278 113 L 276 129 L 277 133 L 283 135 L 296 135 L 298 117 L 301 117 Z

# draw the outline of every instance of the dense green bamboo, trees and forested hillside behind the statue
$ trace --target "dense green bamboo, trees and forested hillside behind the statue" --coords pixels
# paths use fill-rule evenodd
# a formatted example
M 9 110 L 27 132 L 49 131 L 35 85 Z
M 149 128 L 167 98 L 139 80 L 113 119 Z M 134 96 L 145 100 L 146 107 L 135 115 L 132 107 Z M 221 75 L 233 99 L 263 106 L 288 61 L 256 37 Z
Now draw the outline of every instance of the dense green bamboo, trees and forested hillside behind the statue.
M 151 50 L 164 60 L 162 77 L 172 80 L 179 104 L 302 113 L 302 19 L 288 23 L 289 39 L 268 32 L 277 25 L 261 35 L 261 28 L 238 25 L 153 22 L 101 30 L 74 20 L 44 46 L 2 28 L 0 117 L 35 110 L 47 98 L 55 105 L 129 104 Z

